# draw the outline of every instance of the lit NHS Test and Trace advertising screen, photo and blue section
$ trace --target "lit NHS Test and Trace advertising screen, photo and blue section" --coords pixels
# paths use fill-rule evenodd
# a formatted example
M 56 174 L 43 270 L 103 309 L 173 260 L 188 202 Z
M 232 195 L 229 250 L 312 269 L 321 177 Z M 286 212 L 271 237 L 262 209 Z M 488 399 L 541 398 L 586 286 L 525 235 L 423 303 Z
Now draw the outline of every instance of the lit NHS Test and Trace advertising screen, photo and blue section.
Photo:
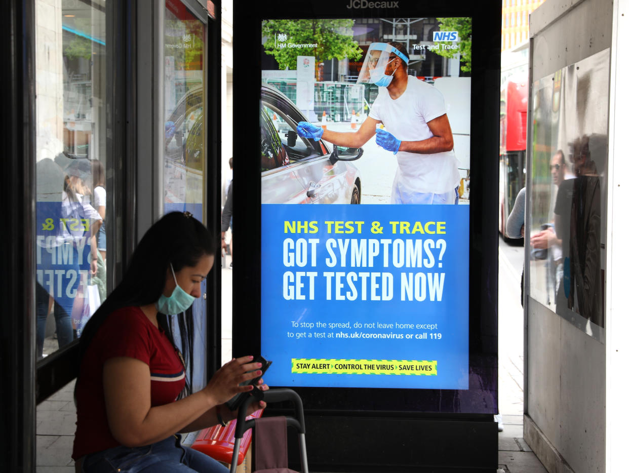
M 260 31 L 265 381 L 469 389 L 472 18 Z

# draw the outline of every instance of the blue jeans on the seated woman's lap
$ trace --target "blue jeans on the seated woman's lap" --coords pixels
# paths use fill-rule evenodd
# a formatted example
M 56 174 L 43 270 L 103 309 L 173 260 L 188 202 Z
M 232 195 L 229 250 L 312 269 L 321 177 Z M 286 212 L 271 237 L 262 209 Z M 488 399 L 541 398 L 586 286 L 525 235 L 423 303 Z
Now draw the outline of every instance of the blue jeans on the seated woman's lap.
M 228 469 L 208 455 L 181 445 L 181 435 L 145 447 L 120 445 L 86 455 L 84 473 L 225 473 Z

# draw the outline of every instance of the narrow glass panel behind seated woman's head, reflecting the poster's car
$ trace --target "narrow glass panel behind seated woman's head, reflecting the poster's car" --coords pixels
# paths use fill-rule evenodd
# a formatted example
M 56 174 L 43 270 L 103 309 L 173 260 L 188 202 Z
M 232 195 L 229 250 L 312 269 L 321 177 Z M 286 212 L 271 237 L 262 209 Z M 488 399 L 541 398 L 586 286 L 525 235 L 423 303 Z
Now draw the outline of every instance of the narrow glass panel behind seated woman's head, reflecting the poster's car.
M 167 0 L 164 16 L 164 212 L 189 211 L 205 223 L 206 25 L 179 0 Z M 206 281 L 201 291 L 206 292 Z M 192 304 L 192 390 L 205 384 L 206 301 Z M 181 337 L 174 324 L 175 340 Z M 181 325 L 181 324 L 180 324 Z M 180 347 L 182 345 L 179 345 Z M 188 364 L 191 369 L 191 364 Z M 188 376 L 190 376 L 190 372 Z

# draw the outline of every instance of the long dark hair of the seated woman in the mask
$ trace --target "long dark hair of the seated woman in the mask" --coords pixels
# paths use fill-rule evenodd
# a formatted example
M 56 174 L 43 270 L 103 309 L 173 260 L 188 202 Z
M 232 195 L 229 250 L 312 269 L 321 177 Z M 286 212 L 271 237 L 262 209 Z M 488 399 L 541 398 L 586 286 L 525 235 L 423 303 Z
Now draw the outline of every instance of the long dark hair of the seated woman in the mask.
M 110 313 L 127 306 L 144 306 L 157 302 L 164 290 L 166 274 L 171 264 L 172 269 L 177 272 L 183 267 L 196 266 L 202 257 L 214 255 L 216 250 L 215 238 L 190 213 L 167 213 L 155 222 L 135 248 L 120 284 L 109 294 L 83 329 L 79 340 L 77 373 L 87 347 Z M 172 318 L 158 313 L 157 321 L 176 347 L 172 335 Z M 187 309 L 186 313 L 178 314 L 177 322 L 181 335 L 181 352 L 192 378 L 194 372 L 192 308 Z M 186 388 L 180 397 L 189 394 L 191 387 L 192 379 L 186 377 Z

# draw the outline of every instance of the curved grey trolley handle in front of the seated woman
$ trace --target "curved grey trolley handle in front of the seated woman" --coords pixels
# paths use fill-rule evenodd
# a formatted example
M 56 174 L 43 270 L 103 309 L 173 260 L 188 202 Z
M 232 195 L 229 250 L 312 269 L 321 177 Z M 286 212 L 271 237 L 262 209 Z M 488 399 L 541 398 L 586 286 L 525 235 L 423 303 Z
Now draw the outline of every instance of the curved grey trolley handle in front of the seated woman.
M 281 401 L 292 401 L 295 408 L 296 417 L 286 417 L 286 425 L 293 426 L 299 433 L 299 448 L 301 450 L 301 467 L 302 473 L 308 473 L 308 460 L 306 457 L 306 423 L 304 422 L 304 406 L 299 395 L 292 389 L 269 389 L 262 393 L 262 400 L 267 404 L 279 403 Z M 234 453 L 231 460 L 230 473 L 235 473 L 238 462 L 238 448 L 240 448 L 240 440 L 244 433 L 255 426 L 255 419 L 245 420 L 247 408 L 254 401 L 259 401 L 260 396 L 248 396 L 238 409 L 238 417 L 236 431 L 234 434 Z

